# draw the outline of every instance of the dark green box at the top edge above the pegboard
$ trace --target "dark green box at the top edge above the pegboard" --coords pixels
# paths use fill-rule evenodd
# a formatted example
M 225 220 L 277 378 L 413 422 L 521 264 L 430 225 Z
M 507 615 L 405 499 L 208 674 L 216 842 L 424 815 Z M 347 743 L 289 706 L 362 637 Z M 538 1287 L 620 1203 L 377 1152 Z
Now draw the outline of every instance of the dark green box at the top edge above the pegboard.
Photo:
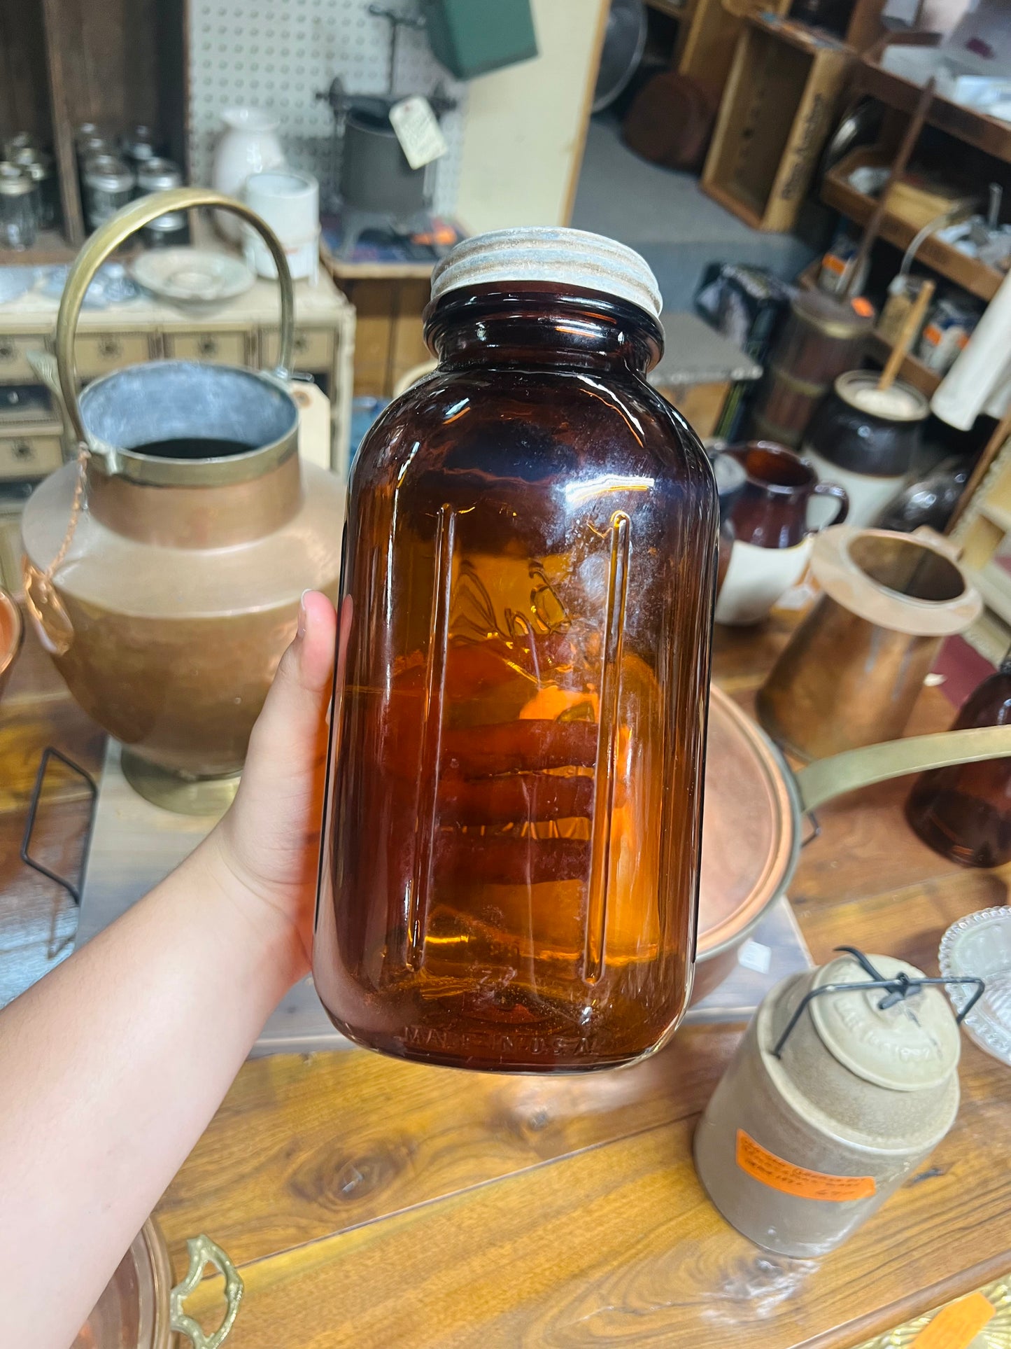
M 431 50 L 457 80 L 538 54 L 530 0 L 422 0 L 422 8 Z

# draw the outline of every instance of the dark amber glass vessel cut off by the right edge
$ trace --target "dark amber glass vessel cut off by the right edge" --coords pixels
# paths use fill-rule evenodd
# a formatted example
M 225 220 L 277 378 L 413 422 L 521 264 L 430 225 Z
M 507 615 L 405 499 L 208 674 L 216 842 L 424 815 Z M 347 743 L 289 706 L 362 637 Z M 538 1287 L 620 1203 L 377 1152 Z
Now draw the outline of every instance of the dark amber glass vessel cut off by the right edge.
M 1011 723 L 1011 652 L 965 700 L 952 726 Z M 1011 862 L 1011 759 L 984 759 L 921 773 L 906 817 L 936 853 L 965 866 Z

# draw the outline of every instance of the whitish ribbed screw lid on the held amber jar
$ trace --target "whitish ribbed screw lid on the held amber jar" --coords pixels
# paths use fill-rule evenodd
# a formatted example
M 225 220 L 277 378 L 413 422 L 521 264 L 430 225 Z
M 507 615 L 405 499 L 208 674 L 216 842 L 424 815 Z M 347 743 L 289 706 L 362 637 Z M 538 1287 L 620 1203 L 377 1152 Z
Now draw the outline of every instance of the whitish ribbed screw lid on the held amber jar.
M 458 243 L 431 274 L 431 298 L 511 281 L 603 291 L 656 320 L 663 304 L 656 278 L 634 248 L 585 229 L 542 225 L 499 229 Z

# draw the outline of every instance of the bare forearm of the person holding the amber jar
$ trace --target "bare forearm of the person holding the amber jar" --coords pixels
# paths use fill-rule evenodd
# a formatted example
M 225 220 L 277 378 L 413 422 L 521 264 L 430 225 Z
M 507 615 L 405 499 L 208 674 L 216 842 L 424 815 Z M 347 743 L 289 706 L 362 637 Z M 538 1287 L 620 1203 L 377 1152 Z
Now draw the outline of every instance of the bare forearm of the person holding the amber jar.
M 4 1342 L 73 1341 L 303 966 L 212 835 L 0 1013 Z

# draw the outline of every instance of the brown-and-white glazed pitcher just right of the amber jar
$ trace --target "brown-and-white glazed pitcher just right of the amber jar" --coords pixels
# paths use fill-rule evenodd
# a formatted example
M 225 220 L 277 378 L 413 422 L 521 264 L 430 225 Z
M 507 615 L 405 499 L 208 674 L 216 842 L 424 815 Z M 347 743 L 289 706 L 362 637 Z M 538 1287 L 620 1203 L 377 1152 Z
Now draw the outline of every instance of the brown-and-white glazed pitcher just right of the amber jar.
M 838 483 L 820 483 L 810 465 L 774 441 L 755 440 L 724 451 L 744 469 L 744 490 L 733 513 L 733 552 L 716 603 L 716 622 L 758 623 L 803 576 L 811 538 L 847 518 L 849 498 Z M 809 522 L 814 496 L 832 496 L 832 521 Z

